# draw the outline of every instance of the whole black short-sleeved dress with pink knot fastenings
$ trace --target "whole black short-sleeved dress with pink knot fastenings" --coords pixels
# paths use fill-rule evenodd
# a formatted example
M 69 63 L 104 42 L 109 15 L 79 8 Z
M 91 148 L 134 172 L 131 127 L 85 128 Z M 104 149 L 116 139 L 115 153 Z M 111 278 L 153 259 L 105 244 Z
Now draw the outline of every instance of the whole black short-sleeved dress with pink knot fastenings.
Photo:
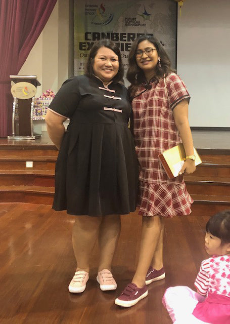
M 89 216 L 134 211 L 138 163 L 125 87 L 74 76 L 49 109 L 70 119 L 56 162 L 53 208 Z

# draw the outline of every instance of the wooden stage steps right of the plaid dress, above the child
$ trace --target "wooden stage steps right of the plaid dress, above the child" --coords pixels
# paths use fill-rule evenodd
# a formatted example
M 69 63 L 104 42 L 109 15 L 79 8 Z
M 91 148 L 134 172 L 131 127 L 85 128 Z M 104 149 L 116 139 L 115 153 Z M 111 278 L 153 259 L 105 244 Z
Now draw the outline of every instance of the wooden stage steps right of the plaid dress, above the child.
M 208 153 L 207 153 L 208 151 Z M 185 175 L 189 193 L 194 199 L 192 215 L 211 216 L 230 208 L 230 155 L 218 150 L 198 150 L 202 164 L 191 175 Z M 226 154 L 225 154 L 226 153 Z

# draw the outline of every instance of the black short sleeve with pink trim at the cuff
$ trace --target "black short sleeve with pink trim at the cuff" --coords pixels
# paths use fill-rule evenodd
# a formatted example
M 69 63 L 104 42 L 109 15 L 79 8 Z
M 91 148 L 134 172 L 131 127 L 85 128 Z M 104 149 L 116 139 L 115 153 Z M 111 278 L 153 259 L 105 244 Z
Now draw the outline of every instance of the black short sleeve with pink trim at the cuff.
M 73 76 L 66 80 L 51 102 L 49 109 L 70 118 L 80 101 L 79 80 Z

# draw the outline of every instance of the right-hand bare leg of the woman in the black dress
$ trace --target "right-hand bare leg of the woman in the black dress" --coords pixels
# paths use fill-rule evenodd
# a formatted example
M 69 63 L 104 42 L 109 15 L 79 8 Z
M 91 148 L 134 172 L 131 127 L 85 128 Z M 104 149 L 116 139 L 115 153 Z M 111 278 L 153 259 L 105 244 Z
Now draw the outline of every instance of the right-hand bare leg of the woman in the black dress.
M 111 270 L 113 255 L 121 231 L 120 215 L 106 215 L 99 230 L 100 261 L 98 271 Z

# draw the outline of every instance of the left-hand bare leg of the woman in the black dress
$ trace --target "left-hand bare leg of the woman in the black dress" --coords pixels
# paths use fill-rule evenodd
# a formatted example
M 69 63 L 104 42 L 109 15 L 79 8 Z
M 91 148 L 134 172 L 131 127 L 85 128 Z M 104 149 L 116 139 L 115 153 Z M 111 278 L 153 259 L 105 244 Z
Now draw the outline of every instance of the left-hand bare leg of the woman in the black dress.
M 89 256 L 95 246 L 102 217 L 76 216 L 72 243 L 77 269 L 89 272 Z

